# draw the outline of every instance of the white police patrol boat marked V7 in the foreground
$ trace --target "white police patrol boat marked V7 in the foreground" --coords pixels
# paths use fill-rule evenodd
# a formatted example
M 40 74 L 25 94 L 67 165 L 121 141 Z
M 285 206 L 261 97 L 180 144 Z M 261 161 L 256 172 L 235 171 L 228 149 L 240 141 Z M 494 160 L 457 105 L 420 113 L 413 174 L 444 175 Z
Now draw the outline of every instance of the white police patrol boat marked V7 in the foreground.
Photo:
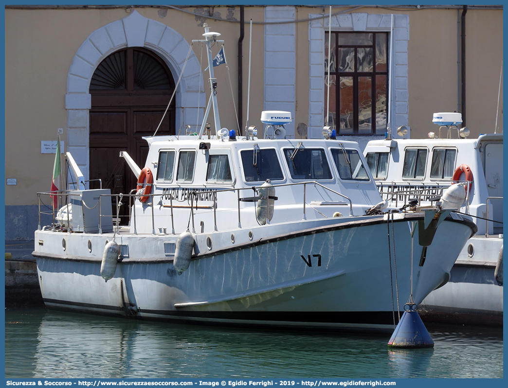
M 218 35 L 205 27 L 201 41 L 211 80 Z M 80 183 L 59 193 L 66 205 L 35 232 L 47 307 L 391 332 L 406 301 L 412 308 L 448 281 L 477 231 L 469 217 L 438 207 L 382 214 L 357 143 L 328 132 L 286 139 L 292 118 L 281 111 L 262 113 L 263 139 L 252 126 L 237 137 L 220 127 L 210 85 L 215 136 L 203 135 L 209 104 L 199 135 L 146 138 L 142 168 L 123 154 L 139 176 L 137 191 L 116 196 Z M 121 206 L 130 207 L 128 225 L 114 217 Z

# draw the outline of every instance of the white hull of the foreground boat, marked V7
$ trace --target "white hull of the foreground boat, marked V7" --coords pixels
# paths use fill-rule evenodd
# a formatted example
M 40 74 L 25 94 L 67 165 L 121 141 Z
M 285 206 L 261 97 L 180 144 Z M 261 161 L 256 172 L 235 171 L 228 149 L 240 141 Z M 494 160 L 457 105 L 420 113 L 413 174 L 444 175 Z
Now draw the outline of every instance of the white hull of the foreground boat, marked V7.
M 474 233 L 469 221 L 448 217 L 440 228 L 453 232 L 453 241 L 436 233 L 421 265 L 418 231 L 411 244 L 409 228 L 414 221 L 418 229 L 419 219 L 354 217 L 291 233 L 263 225 L 249 232 L 272 237 L 216 250 L 206 249 L 206 237 L 224 241 L 231 231 L 196 235 L 195 254 L 181 275 L 173 257 L 159 253 L 163 239 L 155 235 L 117 237 L 131 254 L 120 258 L 108 281 L 101 277 L 102 257 L 85 242 L 94 238 L 100 246 L 102 239 L 104 246 L 111 235 L 67 234 L 66 251 L 80 252 L 69 255 L 44 252 L 62 234 L 38 231 L 36 243 L 43 245 L 34 255 L 50 308 L 217 325 L 393 331 L 411 289 L 419 303 L 445 283 Z

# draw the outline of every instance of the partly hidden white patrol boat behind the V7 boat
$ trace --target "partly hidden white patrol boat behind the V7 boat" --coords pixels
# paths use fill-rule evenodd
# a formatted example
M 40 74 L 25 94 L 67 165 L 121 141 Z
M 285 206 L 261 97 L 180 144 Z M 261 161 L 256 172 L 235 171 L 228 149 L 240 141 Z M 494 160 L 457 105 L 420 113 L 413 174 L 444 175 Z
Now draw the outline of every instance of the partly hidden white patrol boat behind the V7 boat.
M 460 113 L 434 113 L 433 122 L 439 132 L 428 139 L 370 141 L 364 155 L 383 198 L 395 207 L 444 204 L 450 198 L 443 190 L 465 184 L 458 212 L 471 215 L 478 232 L 460 252 L 450 281 L 419 311 L 432 320 L 502 325 L 503 134 L 468 139 L 469 130 L 458 129 Z M 399 128 L 400 136 L 406 133 Z

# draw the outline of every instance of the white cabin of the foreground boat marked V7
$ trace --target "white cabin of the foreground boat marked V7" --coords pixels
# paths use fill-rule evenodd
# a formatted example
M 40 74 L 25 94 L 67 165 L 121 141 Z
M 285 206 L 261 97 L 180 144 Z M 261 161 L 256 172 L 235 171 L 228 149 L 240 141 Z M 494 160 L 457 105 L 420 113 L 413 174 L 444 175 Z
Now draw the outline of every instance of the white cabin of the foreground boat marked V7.
M 187 225 L 196 229 L 191 224 L 194 218 L 199 218 L 202 232 L 210 232 L 231 228 L 231 217 L 249 226 L 363 215 L 381 201 L 355 142 L 234 134 L 145 140 L 149 152 L 142 171 L 150 172 L 153 183 L 147 200 L 135 201 L 131 232 L 150 233 L 152 227 L 181 232 Z M 266 185 L 273 207 L 272 217 L 263 220 L 256 216 L 256 208 Z

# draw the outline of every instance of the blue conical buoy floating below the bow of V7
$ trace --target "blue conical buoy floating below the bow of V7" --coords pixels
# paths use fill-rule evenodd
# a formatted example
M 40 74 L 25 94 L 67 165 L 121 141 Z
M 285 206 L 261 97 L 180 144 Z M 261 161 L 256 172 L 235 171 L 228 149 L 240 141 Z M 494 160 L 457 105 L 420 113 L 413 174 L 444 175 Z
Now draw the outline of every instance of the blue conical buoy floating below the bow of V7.
M 404 311 L 388 346 L 400 348 L 433 347 L 427 328 L 417 311 Z

